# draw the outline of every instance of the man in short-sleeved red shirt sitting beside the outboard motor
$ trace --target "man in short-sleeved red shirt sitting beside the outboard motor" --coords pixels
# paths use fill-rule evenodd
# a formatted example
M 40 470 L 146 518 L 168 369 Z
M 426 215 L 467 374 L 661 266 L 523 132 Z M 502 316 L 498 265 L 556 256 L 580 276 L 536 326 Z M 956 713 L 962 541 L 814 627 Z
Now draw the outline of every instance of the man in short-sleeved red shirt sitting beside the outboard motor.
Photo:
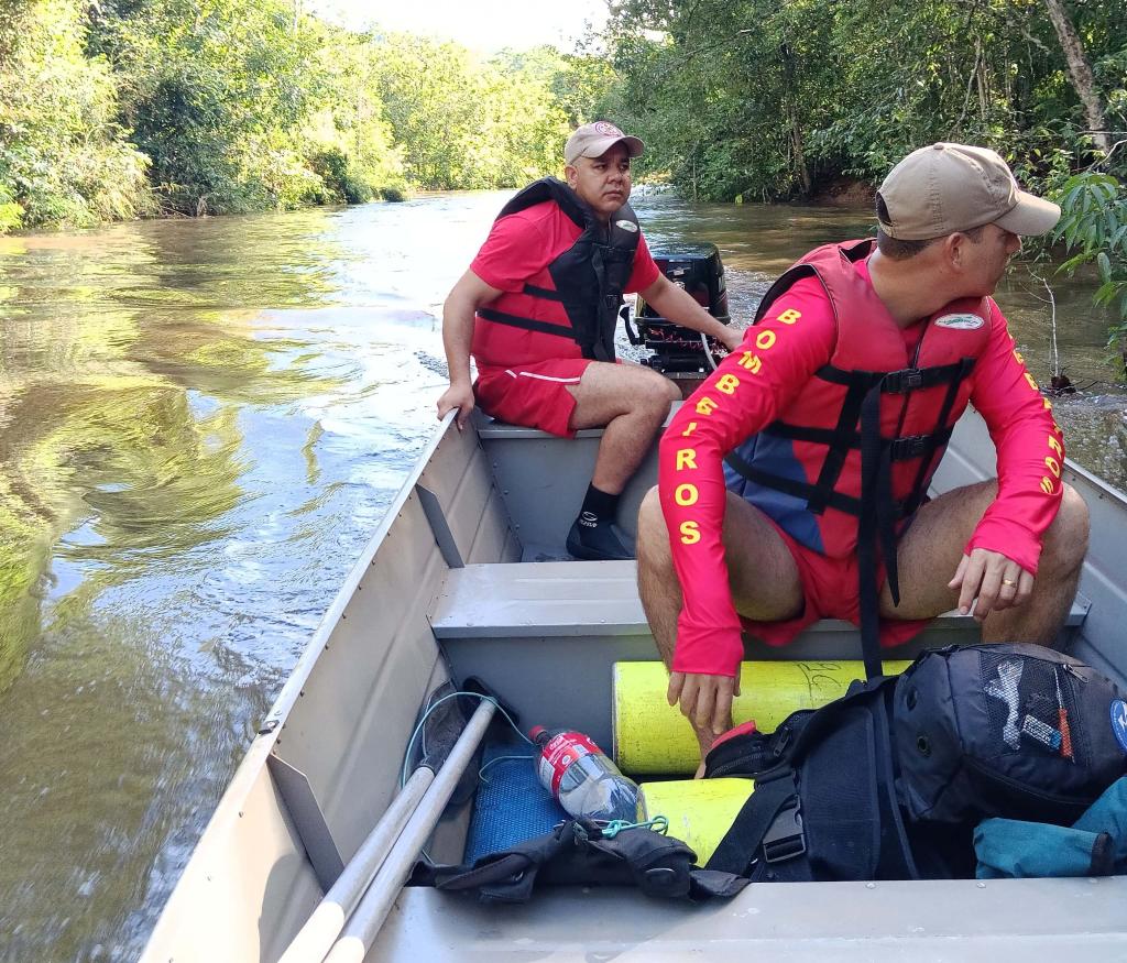
M 462 429 L 477 401 L 496 418 L 565 438 L 606 429 L 567 538 L 578 558 L 633 557 L 611 527 L 619 495 L 681 397 L 656 371 L 614 363 L 622 294 L 639 292 L 729 351 L 739 343 L 650 257 L 627 204 L 630 158 L 641 151 L 638 138 L 605 121 L 579 127 L 564 149 L 567 184 L 538 180 L 504 206 L 443 309 L 450 388 L 440 418 L 459 408 Z

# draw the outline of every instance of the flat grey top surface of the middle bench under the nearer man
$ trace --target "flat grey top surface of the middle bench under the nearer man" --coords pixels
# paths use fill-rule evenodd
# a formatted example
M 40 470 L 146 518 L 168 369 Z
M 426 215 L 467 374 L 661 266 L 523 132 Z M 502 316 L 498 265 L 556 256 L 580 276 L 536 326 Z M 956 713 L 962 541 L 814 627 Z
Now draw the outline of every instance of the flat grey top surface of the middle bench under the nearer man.
M 1077 600 L 1066 628 L 1079 626 L 1086 611 L 1088 603 Z M 929 646 L 977 640 L 978 626 L 970 616 L 947 612 L 937 624 L 925 633 Z M 438 639 L 650 634 L 638 598 L 637 563 L 633 560 L 526 562 L 453 568 L 438 595 L 431 627 Z M 937 629 L 944 636 L 943 640 L 935 638 Z M 832 651 L 840 653 L 838 646 L 844 643 L 842 634 L 855 631 L 850 622 L 823 619 L 810 626 L 796 644 L 828 637 L 827 640 L 837 643 Z M 756 645 L 748 639 L 749 651 Z M 786 651 L 789 659 L 807 657 L 792 646 Z

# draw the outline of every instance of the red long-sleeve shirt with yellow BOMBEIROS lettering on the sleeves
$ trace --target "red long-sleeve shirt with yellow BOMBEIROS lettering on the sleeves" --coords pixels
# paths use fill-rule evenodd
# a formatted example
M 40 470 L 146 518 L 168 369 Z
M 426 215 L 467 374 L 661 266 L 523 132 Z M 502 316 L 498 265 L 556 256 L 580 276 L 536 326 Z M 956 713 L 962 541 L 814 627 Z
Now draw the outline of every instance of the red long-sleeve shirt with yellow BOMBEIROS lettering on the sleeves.
M 869 279 L 864 262 L 857 268 Z M 795 312 L 800 312 L 801 324 L 790 320 Z M 970 403 L 985 418 L 997 449 L 999 495 L 975 528 L 966 551 L 999 551 L 1036 574 L 1041 537 L 1061 503 L 1063 440 L 1050 405 L 1014 350 L 1005 318 L 993 300 L 990 325 L 986 348 L 969 376 Z M 765 329 L 774 337 L 763 338 Z M 922 324 L 904 330 L 909 348 L 922 330 Z M 727 491 L 722 459 L 783 415 L 802 386 L 829 362 L 836 336 L 833 310 L 822 285 L 813 277 L 798 281 L 758 325 L 748 328 L 742 348 L 725 359 L 682 405 L 662 439 L 659 494 L 684 598 L 675 671 L 734 675 L 738 670 L 743 636 L 720 538 Z M 758 347 L 756 338 L 761 338 L 758 345 L 770 342 L 770 350 Z M 717 390 L 726 374 L 746 374 L 740 368 L 745 348 L 756 352 L 762 362 L 756 377 L 742 378 L 735 394 Z M 677 457 L 686 432 L 693 439 L 692 463 L 678 462 Z M 696 492 L 691 505 L 677 497 L 678 486 L 685 483 Z

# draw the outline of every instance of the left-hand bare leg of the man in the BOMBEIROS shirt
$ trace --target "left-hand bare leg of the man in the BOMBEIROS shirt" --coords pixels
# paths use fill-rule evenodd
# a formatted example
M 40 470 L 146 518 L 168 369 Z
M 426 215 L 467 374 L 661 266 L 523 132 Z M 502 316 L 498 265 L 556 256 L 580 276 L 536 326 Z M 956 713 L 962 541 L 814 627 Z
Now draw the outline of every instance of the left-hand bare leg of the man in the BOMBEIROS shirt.
M 724 546 L 737 611 L 762 621 L 795 618 L 801 612 L 802 589 L 790 550 L 762 512 L 730 492 Z M 647 493 L 638 514 L 638 593 L 657 651 L 666 668 L 672 668 L 682 595 L 657 488 Z M 690 723 L 703 759 L 716 735 L 707 723 Z

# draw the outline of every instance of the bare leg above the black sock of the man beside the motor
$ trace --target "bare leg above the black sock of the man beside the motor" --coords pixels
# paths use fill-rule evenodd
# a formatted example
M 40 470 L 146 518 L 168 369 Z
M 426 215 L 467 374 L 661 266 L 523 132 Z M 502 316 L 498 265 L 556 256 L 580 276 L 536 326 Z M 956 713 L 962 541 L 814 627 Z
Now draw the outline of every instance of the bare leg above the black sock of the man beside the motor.
M 609 495 L 625 487 L 662 429 L 681 390 L 641 364 L 593 362 L 568 390 L 575 396 L 571 427 L 603 427 L 591 484 Z

